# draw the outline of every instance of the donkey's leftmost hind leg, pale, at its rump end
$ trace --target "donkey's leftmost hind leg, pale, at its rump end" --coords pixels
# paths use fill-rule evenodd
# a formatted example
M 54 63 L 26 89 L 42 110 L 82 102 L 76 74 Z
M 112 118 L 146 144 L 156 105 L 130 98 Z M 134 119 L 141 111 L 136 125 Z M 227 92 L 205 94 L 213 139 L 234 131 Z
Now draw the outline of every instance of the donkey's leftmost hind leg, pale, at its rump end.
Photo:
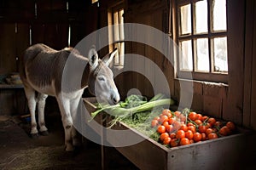
M 38 136 L 37 122 L 36 122 L 36 116 L 35 116 L 36 105 L 37 105 L 36 92 L 32 88 L 26 87 L 26 85 L 24 89 L 25 89 L 28 109 L 31 114 L 31 135 L 33 138 Z

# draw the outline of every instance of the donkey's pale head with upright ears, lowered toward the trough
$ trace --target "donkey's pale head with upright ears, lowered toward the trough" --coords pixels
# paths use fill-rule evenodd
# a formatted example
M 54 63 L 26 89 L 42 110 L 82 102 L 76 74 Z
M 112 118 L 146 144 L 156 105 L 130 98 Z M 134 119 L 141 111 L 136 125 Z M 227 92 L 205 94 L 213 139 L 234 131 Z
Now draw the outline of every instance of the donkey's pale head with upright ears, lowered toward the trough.
M 100 102 L 108 102 L 111 105 L 117 104 L 120 99 L 118 89 L 113 81 L 113 72 L 108 67 L 116 53 L 117 49 L 103 59 L 99 59 L 96 49 L 93 47 L 88 54 L 90 64 L 88 88 L 90 93 L 101 99 Z

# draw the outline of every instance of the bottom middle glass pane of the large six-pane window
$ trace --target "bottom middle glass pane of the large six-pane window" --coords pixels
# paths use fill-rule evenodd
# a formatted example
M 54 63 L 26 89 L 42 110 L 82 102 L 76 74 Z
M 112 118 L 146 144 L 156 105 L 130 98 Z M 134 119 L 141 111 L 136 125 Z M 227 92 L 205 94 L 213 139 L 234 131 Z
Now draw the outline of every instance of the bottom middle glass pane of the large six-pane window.
M 209 71 L 209 49 L 208 39 L 199 38 L 195 40 L 196 47 L 196 70 L 197 71 Z

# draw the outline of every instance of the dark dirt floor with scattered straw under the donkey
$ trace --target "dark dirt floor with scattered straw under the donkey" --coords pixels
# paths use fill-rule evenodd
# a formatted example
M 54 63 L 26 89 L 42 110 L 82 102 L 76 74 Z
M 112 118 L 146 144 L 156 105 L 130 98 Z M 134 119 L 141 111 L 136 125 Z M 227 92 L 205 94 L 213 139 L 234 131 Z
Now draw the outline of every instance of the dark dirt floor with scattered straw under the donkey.
M 87 141 L 78 153 L 64 150 L 59 114 L 46 118 L 48 136 L 32 139 L 30 124 L 18 116 L 0 116 L 0 169 L 102 169 L 101 146 Z M 113 148 L 108 149 L 106 169 L 137 169 Z

